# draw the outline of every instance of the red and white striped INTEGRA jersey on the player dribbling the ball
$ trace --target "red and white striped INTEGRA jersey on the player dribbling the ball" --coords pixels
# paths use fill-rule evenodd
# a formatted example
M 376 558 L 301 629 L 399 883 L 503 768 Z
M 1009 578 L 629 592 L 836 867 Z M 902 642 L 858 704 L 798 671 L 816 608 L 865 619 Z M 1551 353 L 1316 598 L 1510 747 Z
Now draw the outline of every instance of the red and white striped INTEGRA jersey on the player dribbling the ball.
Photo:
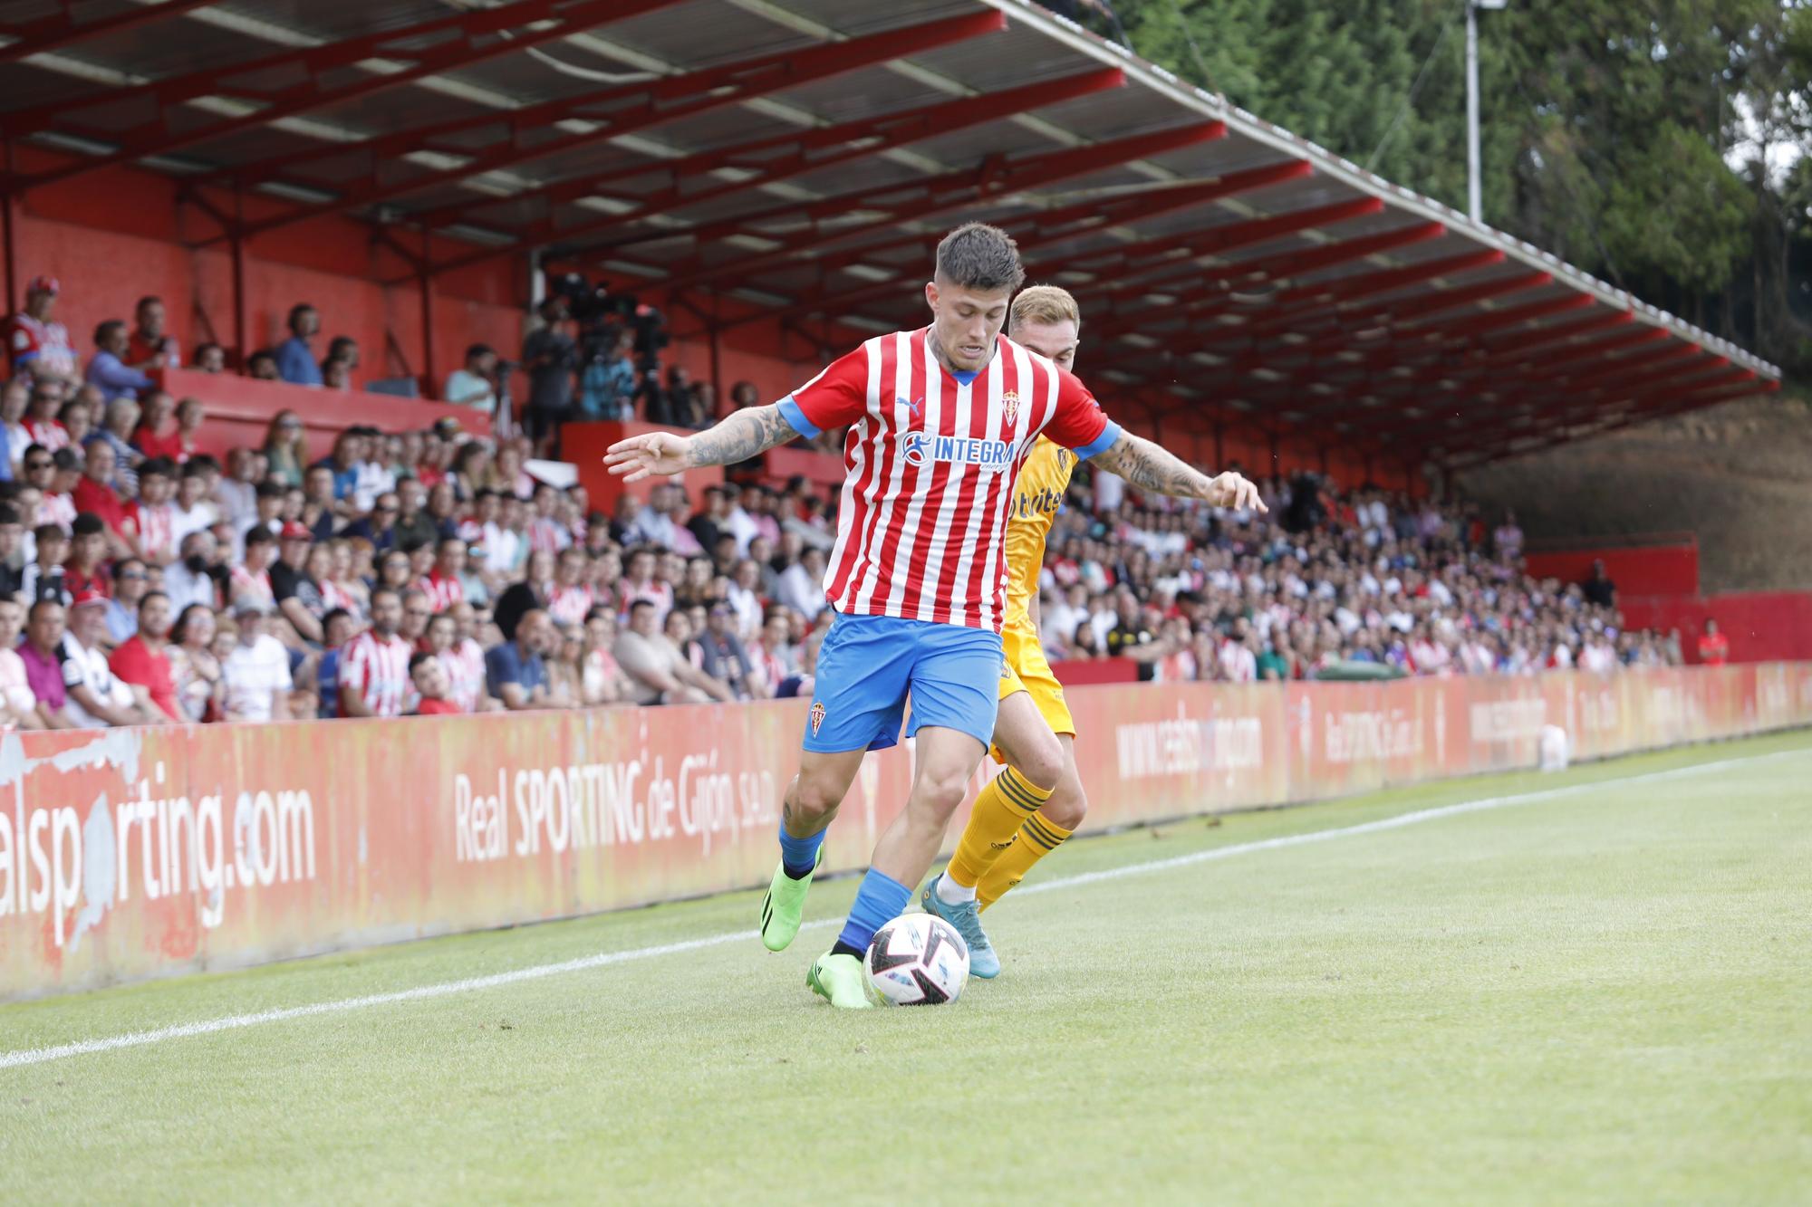
M 824 596 L 839 613 L 998 631 L 1007 504 L 1033 442 L 1042 431 L 1093 457 L 1120 428 L 1073 373 L 1006 335 L 969 381 L 926 335 L 877 335 L 779 404 L 806 437 L 850 424 Z

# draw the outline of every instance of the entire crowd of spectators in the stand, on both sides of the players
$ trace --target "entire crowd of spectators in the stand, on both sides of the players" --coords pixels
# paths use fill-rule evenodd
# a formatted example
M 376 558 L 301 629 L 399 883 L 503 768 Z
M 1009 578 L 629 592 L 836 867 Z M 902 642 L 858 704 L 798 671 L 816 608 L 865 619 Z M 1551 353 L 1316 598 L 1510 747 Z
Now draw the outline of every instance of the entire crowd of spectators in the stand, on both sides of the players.
M 810 694 L 835 515 L 803 478 L 701 498 L 660 484 L 647 504 L 625 495 L 603 515 L 583 486 L 529 473 L 545 437 L 533 422 L 496 439 L 458 424 L 350 428 L 310 449 L 294 411 L 221 464 L 196 448 L 201 404 L 145 375 L 181 361 L 156 297 L 130 326 L 100 326 L 85 373 L 54 299 L 56 283 L 34 279 L 7 326 L 0 723 Z M 545 317 L 524 350 L 531 379 L 538 355 L 564 355 L 545 352 L 564 339 L 558 304 Z M 344 337 L 317 357 L 312 306 L 288 323 L 288 341 L 252 357 L 254 375 L 332 388 L 357 366 Z M 449 404 L 495 404 L 500 372 L 473 348 Z M 582 377 L 569 386 L 583 391 Z M 736 395 L 756 401 L 752 388 Z M 1268 515 L 1230 513 L 1080 471 L 1040 578 L 1049 656 L 1123 656 L 1161 681 L 1680 661 L 1678 634 L 1624 627 L 1602 571 L 1571 585 L 1529 578 L 1513 517 L 1488 527 L 1462 504 L 1339 493 L 1308 475 L 1263 493 Z

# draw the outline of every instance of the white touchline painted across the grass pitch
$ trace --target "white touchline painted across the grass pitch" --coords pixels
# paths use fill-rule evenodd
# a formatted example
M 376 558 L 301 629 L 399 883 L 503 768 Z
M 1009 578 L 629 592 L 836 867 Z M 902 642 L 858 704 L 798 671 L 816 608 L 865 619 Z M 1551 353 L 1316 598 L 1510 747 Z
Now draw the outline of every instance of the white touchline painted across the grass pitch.
M 1326 843 L 1337 837 L 1354 837 L 1357 834 L 1377 834 L 1379 830 L 1397 830 L 1401 826 L 1413 826 L 1424 821 L 1437 821 L 1441 817 L 1457 817 L 1459 814 L 1484 812 L 1488 808 L 1506 808 L 1511 805 L 1551 801 L 1562 796 L 1591 792 L 1593 788 L 1600 788 L 1605 785 L 1631 785 L 1631 783 L 1647 783 L 1654 779 L 1674 779 L 1678 776 L 1696 776 L 1711 770 L 1729 770 L 1732 767 L 1743 767 L 1747 763 L 1763 763 L 1769 759 L 1794 758 L 1805 754 L 1807 750 L 1776 750 L 1774 754 L 1750 754 L 1738 759 L 1716 759 L 1712 763 L 1694 763 L 1691 767 L 1676 767 L 1672 770 L 1662 770 L 1662 772 L 1642 772 L 1638 776 L 1616 776 L 1611 779 L 1573 783 L 1558 788 L 1522 792 L 1517 796 L 1488 796 L 1477 801 L 1460 801 L 1457 805 L 1419 808 L 1415 812 L 1397 814 L 1395 817 L 1381 817 L 1379 821 L 1363 821 L 1359 825 L 1337 826 L 1334 830 L 1310 830 L 1306 834 L 1287 834 L 1283 837 L 1258 839 L 1252 843 L 1210 846 L 1209 850 L 1198 850 L 1189 855 L 1174 855 L 1171 859 L 1151 859 L 1147 863 L 1129 863 L 1125 866 L 1105 868 L 1102 872 L 1082 872 L 1078 875 L 1065 875 L 1055 881 L 1040 881 L 1036 884 L 1026 884 L 1015 892 L 1017 895 L 1026 895 L 1026 893 L 1053 892 L 1058 888 L 1076 888 L 1080 884 L 1116 881 L 1125 875 L 1169 872 L 1172 868 L 1187 868 L 1190 864 L 1210 863 L 1214 859 L 1232 859 L 1234 855 L 1250 855 L 1261 850 L 1277 850 L 1283 846 L 1305 846 L 1308 843 Z M 835 924 L 835 921 L 837 919 L 819 919 L 815 922 L 806 922 L 805 926 L 801 926 L 801 930 L 817 930 L 823 926 L 832 926 Z M 143 1048 L 147 1044 L 163 1044 L 169 1040 L 190 1038 L 196 1035 L 214 1035 L 217 1031 L 237 1031 L 241 1028 L 255 1028 L 266 1022 L 288 1022 L 290 1019 L 339 1015 L 353 1009 L 366 1009 L 368 1006 L 390 1006 L 393 1002 L 417 1002 L 433 997 L 449 997 L 453 993 L 471 993 L 477 990 L 491 990 L 506 984 L 520 984 L 524 980 L 540 980 L 542 977 L 556 977 L 562 973 L 605 968 L 609 964 L 629 964 L 632 961 L 649 961 L 660 955 L 681 955 L 685 951 L 699 951 L 703 948 L 716 948 L 727 942 L 745 942 L 756 937 L 757 932 L 736 930 L 719 935 L 708 935 L 705 939 L 685 939 L 681 942 L 663 942 L 651 948 L 631 948 L 627 951 L 600 951 L 598 955 L 583 955 L 571 961 L 558 961 L 554 964 L 533 964 L 529 968 L 515 968 L 511 971 L 491 973 L 487 977 L 442 980 L 439 984 L 424 984 L 415 990 L 395 990 L 391 993 L 368 993 L 364 997 L 344 997 L 332 1002 L 313 1002 L 310 1006 L 284 1006 L 281 1009 L 261 1009 L 248 1015 L 226 1015 L 223 1019 L 181 1022 L 169 1028 L 156 1028 L 152 1031 L 129 1031 L 127 1035 L 109 1035 L 103 1038 L 78 1040 L 74 1044 L 56 1044 L 53 1048 L 24 1048 L 18 1051 L 0 1053 L 0 1069 L 16 1069 L 29 1064 L 45 1064 L 49 1060 L 63 1060 L 67 1057 L 87 1057 L 92 1053 L 116 1051 L 121 1048 Z

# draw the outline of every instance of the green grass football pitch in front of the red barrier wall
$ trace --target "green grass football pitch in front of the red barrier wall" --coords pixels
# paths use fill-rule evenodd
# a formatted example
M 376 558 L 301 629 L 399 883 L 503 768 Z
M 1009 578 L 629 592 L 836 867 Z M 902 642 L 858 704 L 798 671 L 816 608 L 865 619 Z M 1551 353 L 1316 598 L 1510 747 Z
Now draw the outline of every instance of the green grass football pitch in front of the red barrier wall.
M 1408 823 L 1247 846 L 1390 817 Z M 1205 857 L 1145 866 L 1187 855 Z M 13 1203 L 1812 1198 L 1812 734 L 1174 823 L 1071 843 L 1035 877 L 1051 888 L 988 915 L 1004 975 L 940 1009 L 841 1015 L 806 991 L 853 881 L 815 888 L 823 924 L 783 955 L 752 932 L 645 951 L 748 932 L 759 895 L 734 893 L 5 1006 L 0 1185 Z

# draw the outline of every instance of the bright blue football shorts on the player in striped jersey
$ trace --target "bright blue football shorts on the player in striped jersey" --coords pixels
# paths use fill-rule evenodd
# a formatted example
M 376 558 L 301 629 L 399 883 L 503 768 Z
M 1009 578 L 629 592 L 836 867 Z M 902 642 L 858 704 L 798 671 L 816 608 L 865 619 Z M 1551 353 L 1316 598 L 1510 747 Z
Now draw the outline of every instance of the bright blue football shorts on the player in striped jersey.
M 884 750 L 911 729 L 942 725 L 993 741 L 1000 705 L 1000 634 L 899 616 L 837 613 L 817 652 L 805 748 L 817 754 Z

